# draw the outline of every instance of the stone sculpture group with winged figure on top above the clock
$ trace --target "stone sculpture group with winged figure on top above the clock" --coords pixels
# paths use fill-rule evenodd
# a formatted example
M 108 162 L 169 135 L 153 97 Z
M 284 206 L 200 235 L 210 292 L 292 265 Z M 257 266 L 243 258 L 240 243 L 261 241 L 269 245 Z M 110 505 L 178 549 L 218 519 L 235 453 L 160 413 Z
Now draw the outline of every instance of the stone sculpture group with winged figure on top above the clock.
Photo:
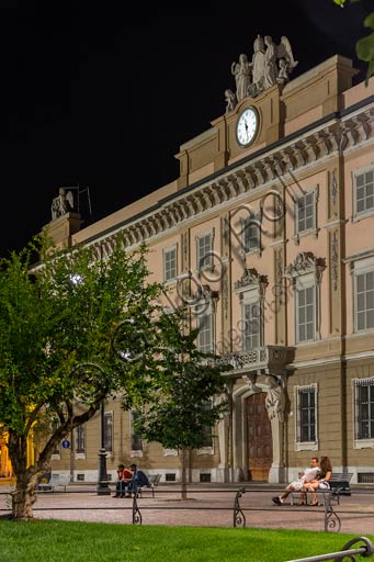
M 256 98 L 275 83 L 285 85 L 297 63 L 285 35 L 281 37 L 279 45 L 270 35 L 258 35 L 251 60 L 241 53 L 239 61 L 231 64 L 236 91 L 225 90 L 226 113 L 233 111 L 237 102 L 247 95 Z

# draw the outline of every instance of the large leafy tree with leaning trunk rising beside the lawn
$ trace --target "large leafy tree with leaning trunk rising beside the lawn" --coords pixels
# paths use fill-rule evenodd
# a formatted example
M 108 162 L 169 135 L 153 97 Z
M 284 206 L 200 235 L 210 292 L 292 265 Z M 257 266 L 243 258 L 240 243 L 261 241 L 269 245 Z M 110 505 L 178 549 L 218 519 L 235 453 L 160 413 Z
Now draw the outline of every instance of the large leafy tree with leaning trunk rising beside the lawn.
M 134 380 L 134 392 L 147 398 L 158 369 L 152 319 L 160 294 L 147 276 L 146 248 L 128 256 L 120 239 L 105 259 L 93 247 L 56 252 L 35 239 L 0 261 L 0 422 L 16 477 L 15 518 L 32 519 L 37 479 L 56 445 L 104 398 L 131 394 Z M 124 361 L 129 347 L 136 360 Z M 32 435 L 45 439 L 27 467 Z

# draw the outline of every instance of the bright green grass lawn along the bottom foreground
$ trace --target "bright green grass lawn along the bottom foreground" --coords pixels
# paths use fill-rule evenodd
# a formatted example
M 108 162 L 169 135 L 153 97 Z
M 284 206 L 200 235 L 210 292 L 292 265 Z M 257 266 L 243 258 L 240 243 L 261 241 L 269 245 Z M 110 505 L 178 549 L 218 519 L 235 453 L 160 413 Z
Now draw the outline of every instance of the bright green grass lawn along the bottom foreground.
M 336 552 L 355 535 L 218 527 L 0 521 L 2 562 L 284 562 Z M 373 540 L 373 537 L 369 537 Z

